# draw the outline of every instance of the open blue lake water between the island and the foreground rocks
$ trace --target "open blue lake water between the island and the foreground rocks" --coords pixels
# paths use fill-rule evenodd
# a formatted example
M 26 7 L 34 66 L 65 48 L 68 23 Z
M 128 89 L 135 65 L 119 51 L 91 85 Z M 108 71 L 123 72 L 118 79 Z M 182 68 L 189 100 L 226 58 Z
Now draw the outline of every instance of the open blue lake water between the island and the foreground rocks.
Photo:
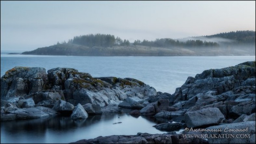
M 173 94 L 188 76 L 207 69 L 219 69 L 255 60 L 255 56 L 175 56 L 175 57 L 81 57 L 7 55 L 1 53 L 1 76 L 15 66 L 77 69 L 93 77 L 135 78 L 157 91 Z

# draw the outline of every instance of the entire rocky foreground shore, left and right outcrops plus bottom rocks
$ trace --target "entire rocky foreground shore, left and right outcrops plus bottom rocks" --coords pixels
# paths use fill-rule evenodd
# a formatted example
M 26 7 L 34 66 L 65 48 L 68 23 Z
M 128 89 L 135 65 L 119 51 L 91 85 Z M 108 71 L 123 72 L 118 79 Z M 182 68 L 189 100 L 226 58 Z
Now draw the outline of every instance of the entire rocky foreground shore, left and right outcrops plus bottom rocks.
M 174 94 L 156 92 L 136 79 L 93 78 L 71 68 L 46 73 L 44 68 L 15 67 L 1 77 L 1 121 L 56 115 L 87 119 L 122 108 L 135 117 L 161 119 L 154 127 L 168 133 L 74 143 L 255 143 L 255 61 L 205 70 L 188 77 Z M 182 134 L 174 132 L 181 128 Z

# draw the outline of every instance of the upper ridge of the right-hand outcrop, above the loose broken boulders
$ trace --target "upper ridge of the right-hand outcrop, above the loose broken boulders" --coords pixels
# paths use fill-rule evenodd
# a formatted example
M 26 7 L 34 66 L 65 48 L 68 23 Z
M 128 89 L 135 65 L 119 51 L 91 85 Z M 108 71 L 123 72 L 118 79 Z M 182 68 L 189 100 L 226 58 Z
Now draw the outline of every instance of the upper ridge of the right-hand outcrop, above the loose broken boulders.
M 188 77 L 185 84 L 176 89 L 174 103 L 187 100 L 199 93 L 220 95 L 245 84 L 255 86 L 255 83 L 250 82 L 253 79 L 255 80 L 255 62 L 253 61 L 233 67 L 205 70 L 201 74 L 196 74 L 195 78 Z

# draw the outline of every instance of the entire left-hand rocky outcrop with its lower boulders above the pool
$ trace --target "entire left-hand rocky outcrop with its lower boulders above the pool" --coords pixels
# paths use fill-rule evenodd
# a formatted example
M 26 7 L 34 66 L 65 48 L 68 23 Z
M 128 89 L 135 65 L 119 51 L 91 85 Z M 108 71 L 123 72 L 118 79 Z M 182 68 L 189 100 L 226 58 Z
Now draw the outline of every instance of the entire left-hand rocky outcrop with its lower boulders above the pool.
M 90 114 L 118 113 L 118 104 L 125 99 L 131 108 L 141 109 L 148 104 L 143 99 L 156 95 L 155 88 L 132 78 L 93 78 L 71 68 L 47 72 L 44 68 L 29 67 L 7 71 L 1 78 L 1 114 L 10 116 L 10 111 L 16 109 L 45 107 L 70 115 L 78 103 L 85 105 Z

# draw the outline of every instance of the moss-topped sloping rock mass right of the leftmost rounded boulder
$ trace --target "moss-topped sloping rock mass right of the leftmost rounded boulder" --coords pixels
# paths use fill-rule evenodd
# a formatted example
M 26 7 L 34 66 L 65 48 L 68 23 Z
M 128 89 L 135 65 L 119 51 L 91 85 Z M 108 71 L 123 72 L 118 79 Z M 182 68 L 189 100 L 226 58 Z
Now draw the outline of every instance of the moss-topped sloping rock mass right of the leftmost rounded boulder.
M 102 107 L 128 97 L 144 98 L 156 94 L 155 88 L 136 79 L 93 78 L 88 73 L 69 68 L 48 70 L 48 77 L 51 87 L 64 90 L 66 101 L 73 105 L 92 103 Z

